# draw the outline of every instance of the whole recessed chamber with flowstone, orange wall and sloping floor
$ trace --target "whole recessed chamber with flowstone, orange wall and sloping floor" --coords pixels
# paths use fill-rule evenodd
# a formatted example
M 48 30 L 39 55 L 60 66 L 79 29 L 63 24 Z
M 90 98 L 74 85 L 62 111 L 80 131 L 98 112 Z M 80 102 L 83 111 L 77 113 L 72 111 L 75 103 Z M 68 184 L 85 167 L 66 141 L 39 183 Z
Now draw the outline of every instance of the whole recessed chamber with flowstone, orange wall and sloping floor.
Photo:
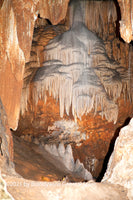
M 99 12 L 94 22 L 91 10 Z M 36 20 L 18 129 L 12 131 L 15 169 L 24 178 L 102 179 L 133 94 L 129 49 L 116 38 L 116 13 L 113 1 L 72 1 L 64 22 Z

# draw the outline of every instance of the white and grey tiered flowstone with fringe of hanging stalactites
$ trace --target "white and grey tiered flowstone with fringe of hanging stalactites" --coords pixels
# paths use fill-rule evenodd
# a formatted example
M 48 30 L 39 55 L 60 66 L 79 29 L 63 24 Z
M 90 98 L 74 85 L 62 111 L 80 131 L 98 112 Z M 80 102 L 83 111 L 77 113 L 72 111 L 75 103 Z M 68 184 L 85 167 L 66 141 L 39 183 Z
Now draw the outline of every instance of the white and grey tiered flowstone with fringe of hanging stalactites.
M 43 66 L 32 79 L 33 99 L 36 104 L 42 98 L 46 103 L 48 91 L 49 96 L 59 100 L 61 117 L 64 111 L 69 115 L 72 106 L 75 119 L 94 109 L 94 114 L 116 123 L 116 100 L 122 92 L 126 95 L 130 92 L 128 73 L 109 59 L 104 43 L 87 29 L 82 13 L 78 15 L 78 12 L 81 9 L 76 10 L 71 29 L 56 36 L 44 48 Z M 28 96 L 28 91 L 25 95 Z M 23 98 L 24 110 L 28 98 Z

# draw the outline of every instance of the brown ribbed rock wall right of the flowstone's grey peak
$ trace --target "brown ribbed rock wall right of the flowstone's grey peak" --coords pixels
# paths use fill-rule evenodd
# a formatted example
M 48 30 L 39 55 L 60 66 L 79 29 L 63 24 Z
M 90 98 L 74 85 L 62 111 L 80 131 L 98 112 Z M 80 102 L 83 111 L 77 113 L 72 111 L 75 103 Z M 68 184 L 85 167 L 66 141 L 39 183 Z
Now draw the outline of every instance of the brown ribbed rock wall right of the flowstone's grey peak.
M 97 12 L 95 12 L 97 10 Z M 85 24 L 105 43 L 108 56 L 128 68 L 129 45 L 117 37 L 118 5 L 113 1 L 88 1 L 85 6 Z M 90 20 L 90 19 L 93 20 Z

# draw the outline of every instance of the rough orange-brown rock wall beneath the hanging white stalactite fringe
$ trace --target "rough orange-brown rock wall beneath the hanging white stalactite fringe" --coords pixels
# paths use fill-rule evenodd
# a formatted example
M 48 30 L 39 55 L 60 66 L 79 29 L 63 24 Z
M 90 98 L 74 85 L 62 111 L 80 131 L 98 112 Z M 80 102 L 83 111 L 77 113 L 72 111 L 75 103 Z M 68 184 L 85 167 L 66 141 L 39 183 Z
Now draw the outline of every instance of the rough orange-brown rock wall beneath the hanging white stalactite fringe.
M 71 143 L 75 159 L 79 158 L 93 176 L 98 177 L 110 142 L 112 140 L 113 143 L 115 137 L 118 136 L 119 129 L 125 123 L 125 120 L 133 116 L 132 109 L 133 106 L 130 102 L 124 102 L 121 98 L 119 100 L 118 121 L 115 125 L 112 122 L 107 122 L 105 118 L 102 119 L 99 115 L 94 116 L 92 111 L 78 120 L 77 130 L 73 130 L 74 133 L 70 132 L 68 137 L 66 132 L 72 129 L 70 127 L 66 127 L 65 130 L 61 129 L 59 126 L 56 127 L 55 123 L 64 120 L 62 126 L 65 126 L 66 122 L 74 122 L 72 114 L 70 116 L 65 114 L 62 119 L 59 113 L 59 103 L 52 97 L 47 98 L 46 104 L 43 100 L 39 100 L 36 106 L 31 99 L 28 102 L 27 112 L 20 118 L 16 134 L 19 136 L 44 136 L 46 143 L 57 145 L 61 141 Z M 53 133 L 54 131 L 55 133 Z

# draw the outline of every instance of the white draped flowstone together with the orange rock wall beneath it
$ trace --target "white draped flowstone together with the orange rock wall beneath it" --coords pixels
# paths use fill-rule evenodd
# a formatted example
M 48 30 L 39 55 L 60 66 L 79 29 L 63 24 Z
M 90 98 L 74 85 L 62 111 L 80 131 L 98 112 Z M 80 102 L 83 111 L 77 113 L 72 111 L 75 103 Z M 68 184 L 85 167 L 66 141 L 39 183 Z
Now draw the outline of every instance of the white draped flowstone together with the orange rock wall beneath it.
M 17 134 L 33 135 L 37 143 L 43 137 L 46 144 L 71 144 L 74 159 L 98 177 L 116 129 L 131 114 L 131 75 L 123 62 L 108 57 L 106 43 L 88 30 L 81 11 L 73 9 L 72 27 L 65 32 L 64 25 L 54 32 L 52 25 L 39 28 L 41 33 L 35 29 Z

